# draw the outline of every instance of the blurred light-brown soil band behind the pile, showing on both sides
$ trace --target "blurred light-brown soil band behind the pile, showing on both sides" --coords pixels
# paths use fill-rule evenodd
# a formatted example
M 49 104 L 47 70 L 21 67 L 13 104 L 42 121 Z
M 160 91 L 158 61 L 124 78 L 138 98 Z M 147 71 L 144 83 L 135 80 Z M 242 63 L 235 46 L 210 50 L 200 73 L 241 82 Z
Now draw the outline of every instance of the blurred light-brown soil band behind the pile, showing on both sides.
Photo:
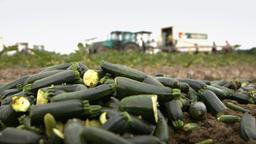
M 256 80 L 256 66 L 255 65 L 240 65 L 227 67 L 138 67 L 137 69 L 148 74 L 166 74 L 173 77 L 191 77 L 194 79 L 218 80 L 218 79 L 243 79 Z M 0 83 L 15 80 L 21 76 L 34 74 L 40 71 L 39 68 L 23 69 L 10 68 L 0 69 Z

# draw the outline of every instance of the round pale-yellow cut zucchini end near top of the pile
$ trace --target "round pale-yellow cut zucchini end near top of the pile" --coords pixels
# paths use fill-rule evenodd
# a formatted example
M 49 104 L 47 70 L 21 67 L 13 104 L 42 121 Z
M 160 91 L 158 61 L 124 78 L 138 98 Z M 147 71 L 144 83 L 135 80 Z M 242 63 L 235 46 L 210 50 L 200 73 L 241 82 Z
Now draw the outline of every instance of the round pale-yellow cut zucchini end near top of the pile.
M 83 82 L 88 87 L 95 87 L 99 83 L 99 74 L 97 71 L 89 69 L 83 75 Z

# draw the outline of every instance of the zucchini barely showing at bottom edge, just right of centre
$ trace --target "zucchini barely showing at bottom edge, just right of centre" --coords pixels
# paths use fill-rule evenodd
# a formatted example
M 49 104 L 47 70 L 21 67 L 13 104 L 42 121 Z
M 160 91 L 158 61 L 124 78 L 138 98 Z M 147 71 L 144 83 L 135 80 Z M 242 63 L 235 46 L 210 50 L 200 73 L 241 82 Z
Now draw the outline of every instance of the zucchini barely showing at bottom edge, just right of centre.
M 151 135 L 140 135 L 127 138 L 133 144 L 162 144 L 159 138 Z

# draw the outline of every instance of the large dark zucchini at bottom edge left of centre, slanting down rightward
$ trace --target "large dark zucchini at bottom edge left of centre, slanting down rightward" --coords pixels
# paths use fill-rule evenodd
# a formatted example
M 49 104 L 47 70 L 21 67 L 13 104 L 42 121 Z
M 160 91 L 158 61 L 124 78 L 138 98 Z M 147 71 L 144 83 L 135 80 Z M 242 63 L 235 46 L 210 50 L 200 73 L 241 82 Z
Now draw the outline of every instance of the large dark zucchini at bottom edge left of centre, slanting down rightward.
M 83 142 L 93 144 L 133 144 L 132 142 L 104 129 L 85 127 L 81 138 Z

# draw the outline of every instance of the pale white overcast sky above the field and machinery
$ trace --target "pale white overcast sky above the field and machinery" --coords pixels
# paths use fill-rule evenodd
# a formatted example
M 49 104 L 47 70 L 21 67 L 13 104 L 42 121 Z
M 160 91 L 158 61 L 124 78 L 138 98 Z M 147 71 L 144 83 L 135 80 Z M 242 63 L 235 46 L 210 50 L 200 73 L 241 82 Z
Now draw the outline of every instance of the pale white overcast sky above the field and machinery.
M 43 44 L 68 53 L 79 41 L 106 38 L 112 30 L 177 26 L 207 33 L 217 44 L 229 40 L 256 46 L 255 0 L 0 0 L 0 36 L 5 44 Z

